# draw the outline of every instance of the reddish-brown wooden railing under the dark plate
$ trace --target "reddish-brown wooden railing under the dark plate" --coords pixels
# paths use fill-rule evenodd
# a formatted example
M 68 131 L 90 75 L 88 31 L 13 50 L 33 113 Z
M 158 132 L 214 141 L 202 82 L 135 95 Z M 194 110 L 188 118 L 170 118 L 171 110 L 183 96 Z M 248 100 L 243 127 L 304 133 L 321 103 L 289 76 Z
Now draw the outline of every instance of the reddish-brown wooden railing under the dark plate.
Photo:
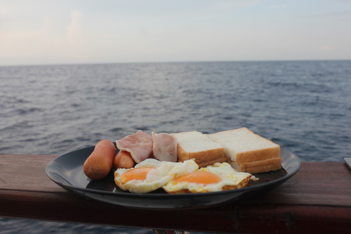
M 0 154 L 0 216 L 215 233 L 348 233 L 351 170 L 302 162 L 288 181 L 238 203 L 189 210 L 110 205 L 67 192 L 48 178 L 57 156 Z

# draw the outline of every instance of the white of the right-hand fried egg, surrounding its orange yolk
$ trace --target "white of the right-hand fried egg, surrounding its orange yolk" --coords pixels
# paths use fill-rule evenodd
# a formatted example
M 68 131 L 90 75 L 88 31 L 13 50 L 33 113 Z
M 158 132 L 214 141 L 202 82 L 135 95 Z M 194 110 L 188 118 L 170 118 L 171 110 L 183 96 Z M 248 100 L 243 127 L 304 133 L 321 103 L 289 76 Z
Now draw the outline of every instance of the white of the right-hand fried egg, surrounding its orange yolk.
M 205 193 L 218 192 L 222 190 L 237 189 L 249 185 L 250 179 L 256 180 L 253 175 L 246 172 L 238 172 L 229 163 L 215 163 L 212 166 L 200 168 L 197 171 L 210 172 L 219 176 L 217 183 L 191 183 L 169 181 L 162 188 L 167 193 Z

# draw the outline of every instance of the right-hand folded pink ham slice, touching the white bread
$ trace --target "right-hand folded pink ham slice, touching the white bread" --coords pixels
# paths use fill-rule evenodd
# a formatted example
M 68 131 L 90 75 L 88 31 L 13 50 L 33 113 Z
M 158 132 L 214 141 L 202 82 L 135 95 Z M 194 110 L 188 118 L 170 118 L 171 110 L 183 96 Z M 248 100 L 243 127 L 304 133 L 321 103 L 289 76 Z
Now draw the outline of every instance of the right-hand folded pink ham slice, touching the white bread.
M 154 132 L 152 134 L 153 139 L 153 154 L 155 159 L 159 161 L 177 162 L 177 137 L 172 134 Z

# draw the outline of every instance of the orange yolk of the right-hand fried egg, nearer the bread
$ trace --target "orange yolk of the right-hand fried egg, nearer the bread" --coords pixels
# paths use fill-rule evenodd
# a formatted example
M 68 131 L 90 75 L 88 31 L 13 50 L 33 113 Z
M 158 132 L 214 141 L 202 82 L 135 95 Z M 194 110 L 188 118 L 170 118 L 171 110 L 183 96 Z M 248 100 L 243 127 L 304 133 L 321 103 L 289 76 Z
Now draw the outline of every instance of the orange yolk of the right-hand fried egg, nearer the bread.
M 211 173 L 211 172 L 192 172 L 187 175 L 179 176 L 174 179 L 176 182 L 189 182 L 189 183 L 202 183 L 202 184 L 210 184 L 210 183 L 218 183 L 220 178 Z

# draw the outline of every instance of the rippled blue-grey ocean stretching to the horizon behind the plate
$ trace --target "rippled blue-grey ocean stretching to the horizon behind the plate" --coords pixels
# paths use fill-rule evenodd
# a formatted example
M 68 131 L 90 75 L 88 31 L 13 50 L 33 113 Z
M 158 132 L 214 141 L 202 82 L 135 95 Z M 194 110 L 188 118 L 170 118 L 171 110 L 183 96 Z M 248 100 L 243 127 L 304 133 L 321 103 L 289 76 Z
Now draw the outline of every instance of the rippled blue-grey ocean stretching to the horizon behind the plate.
M 350 60 L 7 66 L 0 82 L 0 153 L 247 127 L 301 161 L 350 156 Z M 0 234 L 15 233 L 153 231 L 0 218 Z

